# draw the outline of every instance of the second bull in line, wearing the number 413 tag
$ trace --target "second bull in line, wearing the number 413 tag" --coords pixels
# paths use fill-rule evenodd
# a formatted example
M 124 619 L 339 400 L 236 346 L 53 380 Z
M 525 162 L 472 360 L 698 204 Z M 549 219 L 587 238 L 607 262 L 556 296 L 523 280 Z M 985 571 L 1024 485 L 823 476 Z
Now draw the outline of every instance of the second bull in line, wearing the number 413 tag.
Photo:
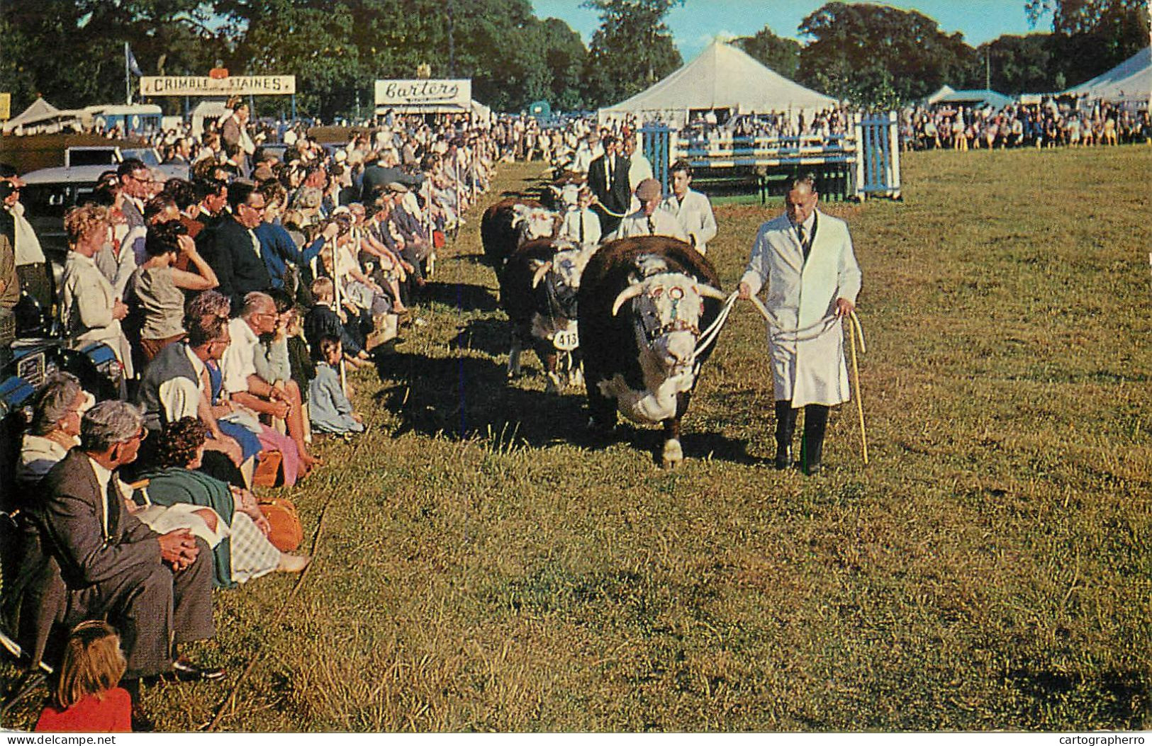
M 500 304 L 511 322 L 508 378 L 520 375 L 521 352 L 531 347 L 544 364 L 550 393 L 579 383 L 576 294 L 594 251 L 543 238 L 524 243 L 508 259 L 500 274 Z

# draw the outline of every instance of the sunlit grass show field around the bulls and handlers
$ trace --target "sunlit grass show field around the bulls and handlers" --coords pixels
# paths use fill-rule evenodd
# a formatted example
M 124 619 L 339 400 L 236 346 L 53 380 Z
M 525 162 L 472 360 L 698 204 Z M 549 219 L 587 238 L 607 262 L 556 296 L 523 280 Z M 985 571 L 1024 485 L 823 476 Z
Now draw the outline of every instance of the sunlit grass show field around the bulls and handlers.
M 498 191 L 535 176 L 505 166 Z M 194 653 L 229 679 L 149 688 L 149 710 L 176 731 L 1152 726 L 1152 149 L 912 153 L 904 182 L 827 207 L 864 272 L 871 464 L 847 405 L 819 478 L 771 467 L 746 304 L 674 472 L 655 431 L 586 441 L 583 391 L 546 395 L 533 356 L 506 383 L 473 213 L 429 326 L 354 376 L 372 432 L 323 443 L 291 492 L 310 571 L 219 593 Z M 727 288 L 779 208 L 718 211 Z

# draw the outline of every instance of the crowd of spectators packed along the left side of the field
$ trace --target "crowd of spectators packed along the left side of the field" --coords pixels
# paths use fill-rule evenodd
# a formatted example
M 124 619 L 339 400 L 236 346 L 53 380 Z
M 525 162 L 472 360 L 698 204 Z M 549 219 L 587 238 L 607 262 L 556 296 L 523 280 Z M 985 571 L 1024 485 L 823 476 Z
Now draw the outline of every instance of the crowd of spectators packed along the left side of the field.
M 212 635 L 213 586 L 306 566 L 272 543 L 256 492 L 324 469 L 317 439 L 365 429 L 342 373 L 381 364 L 397 326 L 422 325 L 437 250 L 506 154 L 464 117 L 393 116 L 335 147 L 294 128 L 272 149 L 247 109 L 233 101 L 199 138 L 160 136 L 191 178 L 128 159 L 65 215 L 48 302 L 66 344 L 107 344 L 123 383 L 96 402 L 50 375 L 16 473 L 0 475 L 3 626 L 51 657 L 53 629 L 111 624 L 124 665 L 101 686 L 123 676 L 137 728 L 142 680 L 225 675 L 176 650 Z M 12 210 L 18 175 L 0 176 L 0 294 L 18 292 L 13 258 L 37 238 Z M 68 691 L 54 713 L 97 707 L 98 692 Z M 69 717 L 48 722 L 88 715 Z

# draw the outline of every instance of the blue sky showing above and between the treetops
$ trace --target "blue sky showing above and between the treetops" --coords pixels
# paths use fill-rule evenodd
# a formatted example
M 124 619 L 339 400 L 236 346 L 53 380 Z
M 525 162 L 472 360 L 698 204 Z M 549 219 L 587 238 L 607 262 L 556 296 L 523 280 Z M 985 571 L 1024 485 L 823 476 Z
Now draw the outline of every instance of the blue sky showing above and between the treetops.
M 797 39 L 801 21 L 825 5 L 826 0 L 685 0 L 668 13 L 681 56 L 689 61 L 717 36 L 752 36 L 765 25 L 780 37 Z M 857 0 L 858 1 L 858 0 Z M 1025 35 L 1051 30 L 1051 16 L 1036 28 L 1024 12 L 1025 0 L 893 0 L 885 5 L 918 10 L 934 20 L 945 33 L 960 31 L 964 41 L 979 46 L 1003 33 Z M 579 32 L 588 44 L 600 25 L 594 10 L 581 7 L 579 0 L 531 0 L 536 16 L 555 17 Z

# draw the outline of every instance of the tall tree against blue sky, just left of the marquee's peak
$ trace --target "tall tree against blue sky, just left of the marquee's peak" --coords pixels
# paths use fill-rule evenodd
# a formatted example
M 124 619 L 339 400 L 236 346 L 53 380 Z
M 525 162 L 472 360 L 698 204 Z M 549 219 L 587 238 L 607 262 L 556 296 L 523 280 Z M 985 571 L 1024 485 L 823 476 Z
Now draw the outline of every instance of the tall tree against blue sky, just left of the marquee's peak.
M 683 2 L 584 0 L 584 7 L 600 14 L 584 66 L 585 104 L 614 104 L 639 93 L 683 63 L 664 22 Z

